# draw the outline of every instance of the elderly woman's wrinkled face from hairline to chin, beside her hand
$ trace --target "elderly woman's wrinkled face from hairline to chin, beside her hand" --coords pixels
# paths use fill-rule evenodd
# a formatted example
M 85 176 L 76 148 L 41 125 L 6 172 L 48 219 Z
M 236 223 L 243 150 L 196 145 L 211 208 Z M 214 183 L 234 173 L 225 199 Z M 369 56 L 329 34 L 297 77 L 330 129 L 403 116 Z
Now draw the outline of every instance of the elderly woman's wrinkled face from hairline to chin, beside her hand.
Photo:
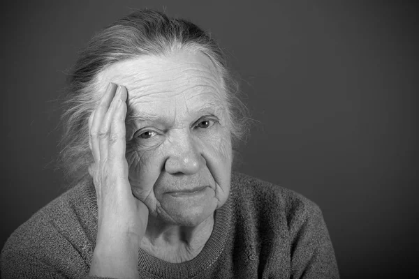
M 116 63 L 98 77 L 126 86 L 126 160 L 149 213 L 195 226 L 226 202 L 232 149 L 221 77 L 205 54 L 180 50 Z

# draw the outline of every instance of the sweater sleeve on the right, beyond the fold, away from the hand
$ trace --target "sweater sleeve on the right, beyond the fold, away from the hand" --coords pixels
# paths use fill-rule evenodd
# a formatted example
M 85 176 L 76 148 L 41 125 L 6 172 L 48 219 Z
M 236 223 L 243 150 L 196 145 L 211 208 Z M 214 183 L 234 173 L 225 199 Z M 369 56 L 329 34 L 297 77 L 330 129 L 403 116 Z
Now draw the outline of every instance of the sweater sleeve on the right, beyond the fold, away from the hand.
M 292 278 L 339 278 L 335 251 L 321 209 L 308 202 L 291 224 Z

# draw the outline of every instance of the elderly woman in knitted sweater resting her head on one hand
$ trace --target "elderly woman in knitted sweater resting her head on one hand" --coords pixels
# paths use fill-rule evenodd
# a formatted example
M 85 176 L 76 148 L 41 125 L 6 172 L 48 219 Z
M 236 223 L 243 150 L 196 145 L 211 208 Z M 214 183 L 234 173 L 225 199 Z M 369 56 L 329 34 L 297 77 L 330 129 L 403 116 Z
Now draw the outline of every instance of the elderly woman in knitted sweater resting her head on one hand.
M 10 236 L 3 278 L 338 278 L 316 204 L 232 173 L 233 84 L 190 22 L 142 10 L 98 33 L 64 114 L 73 187 Z

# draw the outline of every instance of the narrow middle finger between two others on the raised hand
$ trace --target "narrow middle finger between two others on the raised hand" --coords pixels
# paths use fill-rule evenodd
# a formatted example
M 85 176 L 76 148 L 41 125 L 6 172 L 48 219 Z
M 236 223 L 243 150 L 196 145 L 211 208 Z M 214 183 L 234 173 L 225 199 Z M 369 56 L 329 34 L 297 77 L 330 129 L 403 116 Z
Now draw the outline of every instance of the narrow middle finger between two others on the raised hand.
M 112 99 L 112 103 L 110 104 L 108 111 L 103 118 L 102 125 L 101 125 L 101 136 L 99 137 L 99 146 L 100 146 L 100 153 L 101 153 L 101 160 L 108 160 L 108 151 L 109 146 L 117 140 L 117 136 L 115 133 L 111 133 L 110 124 L 112 123 L 112 119 L 115 118 L 115 111 L 117 110 L 117 106 L 121 103 L 121 99 L 119 98 L 121 94 L 121 86 L 117 87 L 117 93 L 115 93 L 114 98 Z

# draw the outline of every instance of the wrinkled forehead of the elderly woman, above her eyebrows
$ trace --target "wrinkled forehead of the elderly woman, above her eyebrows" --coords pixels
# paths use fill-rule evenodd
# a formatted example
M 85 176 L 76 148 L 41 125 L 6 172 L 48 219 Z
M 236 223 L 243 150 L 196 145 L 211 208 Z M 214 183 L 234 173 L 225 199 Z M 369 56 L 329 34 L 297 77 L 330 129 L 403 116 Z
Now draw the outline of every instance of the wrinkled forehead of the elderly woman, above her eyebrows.
M 223 80 L 205 54 L 178 51 L 170 56 L 140 56 L 112 64 L 96 79 L 98 91 L 109 82 L 126 86 L 128 107 L 153 100 L 175 98 L 223 103 Z M 101 93 L 99 93 L 101 94 Z M 100 97 L 100 96 L 98 96 Z

